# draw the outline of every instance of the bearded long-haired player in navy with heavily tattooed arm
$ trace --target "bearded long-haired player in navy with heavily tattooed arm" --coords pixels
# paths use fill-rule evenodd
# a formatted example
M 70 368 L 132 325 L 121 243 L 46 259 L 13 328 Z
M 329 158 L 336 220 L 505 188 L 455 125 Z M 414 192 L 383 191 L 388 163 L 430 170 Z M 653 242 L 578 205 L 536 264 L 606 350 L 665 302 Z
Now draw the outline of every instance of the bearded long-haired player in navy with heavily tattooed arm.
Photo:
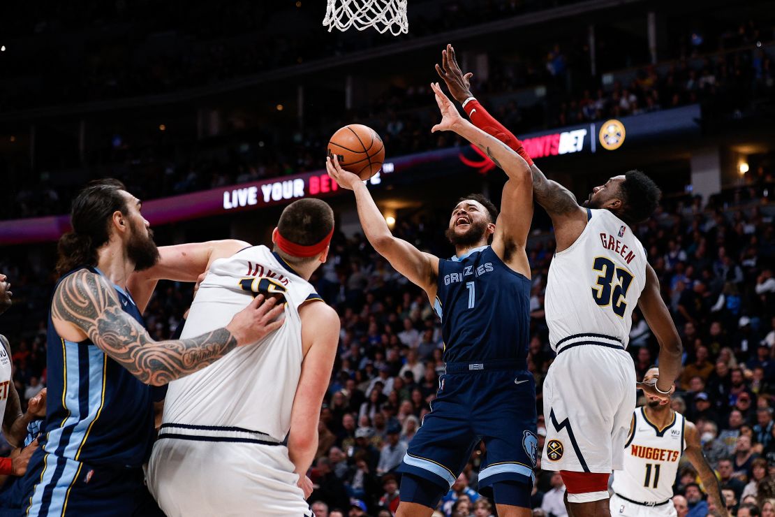
M 46 439 L 22 480 L 26 512 L 162 515 L 143 475 L 155 435 L 149 384 L 256 343 L 281 326 L 283 308 L 257 298 L 219 328 L 154 341 L 126 289 L 158 258 L 140 200 L 119 181 L 94 182 L 74 199 L 71 222 L 48 323 Z

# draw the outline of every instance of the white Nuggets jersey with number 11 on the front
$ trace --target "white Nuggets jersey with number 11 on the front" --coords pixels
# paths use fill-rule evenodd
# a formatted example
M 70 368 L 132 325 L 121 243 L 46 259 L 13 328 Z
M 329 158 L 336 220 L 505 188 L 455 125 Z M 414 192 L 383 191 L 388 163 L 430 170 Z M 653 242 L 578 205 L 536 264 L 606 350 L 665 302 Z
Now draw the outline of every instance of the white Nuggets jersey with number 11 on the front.
M 673 422 L 657 428 L 643 406 L 633 414 L 633 429 L 625 445 L 624 470 L 615 470 L 615 493 L 638 502 L 663 502 L 673 497 L 678 460 L 686 449 L 684 415 L 673 412 Z

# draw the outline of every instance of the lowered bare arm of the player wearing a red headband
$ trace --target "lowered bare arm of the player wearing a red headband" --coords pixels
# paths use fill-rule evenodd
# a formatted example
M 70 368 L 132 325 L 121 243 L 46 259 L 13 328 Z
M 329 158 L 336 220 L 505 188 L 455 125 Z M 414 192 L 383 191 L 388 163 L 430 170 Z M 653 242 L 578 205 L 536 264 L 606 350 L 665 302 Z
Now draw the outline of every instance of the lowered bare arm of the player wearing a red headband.
M 309 302 L 299 308 L 301 363 L 288 433 L 288 456 L 295 471 L 304 476 L 318 448 L 318 419 L 339 345 L 339 315 L 324 302 Z

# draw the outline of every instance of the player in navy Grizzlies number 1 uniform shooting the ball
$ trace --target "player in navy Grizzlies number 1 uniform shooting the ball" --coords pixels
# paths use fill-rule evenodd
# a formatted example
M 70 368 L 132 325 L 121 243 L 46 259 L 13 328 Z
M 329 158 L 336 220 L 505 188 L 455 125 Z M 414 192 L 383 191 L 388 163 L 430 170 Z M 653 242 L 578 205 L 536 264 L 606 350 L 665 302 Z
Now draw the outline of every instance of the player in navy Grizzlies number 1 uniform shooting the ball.
M 367 239 L 392 266 L 425 290 L 442 321 L 446 373 L 399 470 L 397 515 L 431 515 L 484 440 L 481 490 L 494 491 L 498 515 L 531 514 L 536 464 L 536 391 L 527 371 L 530 266 L 525 243 L 532 219 L 528 164 L 464 120 L 432 84 L 442 121 L 432 131 L 454 131 L 480 146 L 508 174 L 501 215 L 482 195 L 460 198 L 446 236 L 456 254 L 439 259 L 391 235 L 356 174 L 329 158 L 329 175 L 353 190 Z M 497 219 L 497 221 L 496 221 Z M 491 246 L 487 243 L 492 239 Z

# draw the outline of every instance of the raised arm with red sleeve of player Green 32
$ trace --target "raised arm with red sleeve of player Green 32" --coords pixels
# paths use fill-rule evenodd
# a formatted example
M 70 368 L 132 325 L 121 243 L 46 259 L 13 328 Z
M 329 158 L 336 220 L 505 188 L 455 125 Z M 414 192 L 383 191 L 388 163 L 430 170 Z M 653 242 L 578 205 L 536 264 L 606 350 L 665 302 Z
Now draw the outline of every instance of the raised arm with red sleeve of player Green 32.
M 442 64 L 436 64 L 436 72 L 449 88 L 449 93 L 469 116 L 474 126 L 494 136 L 511 147 L 527 161 L 532 174 L 533 198 L 549 214 L 555 229 L 558 249 L 564 250 L 574 243 L 587 225 L 587 214 L 576 201 L 576 196 L 556 181 L 546 178 L 539 167 L 533 163 L 522 142 L 484 109 L 470 91 L 470 72 L 463 74 L 457 64 L 455 49 L 447 45 L 442 50 Z M 501 205 L 503 205 L 501 203 Z

